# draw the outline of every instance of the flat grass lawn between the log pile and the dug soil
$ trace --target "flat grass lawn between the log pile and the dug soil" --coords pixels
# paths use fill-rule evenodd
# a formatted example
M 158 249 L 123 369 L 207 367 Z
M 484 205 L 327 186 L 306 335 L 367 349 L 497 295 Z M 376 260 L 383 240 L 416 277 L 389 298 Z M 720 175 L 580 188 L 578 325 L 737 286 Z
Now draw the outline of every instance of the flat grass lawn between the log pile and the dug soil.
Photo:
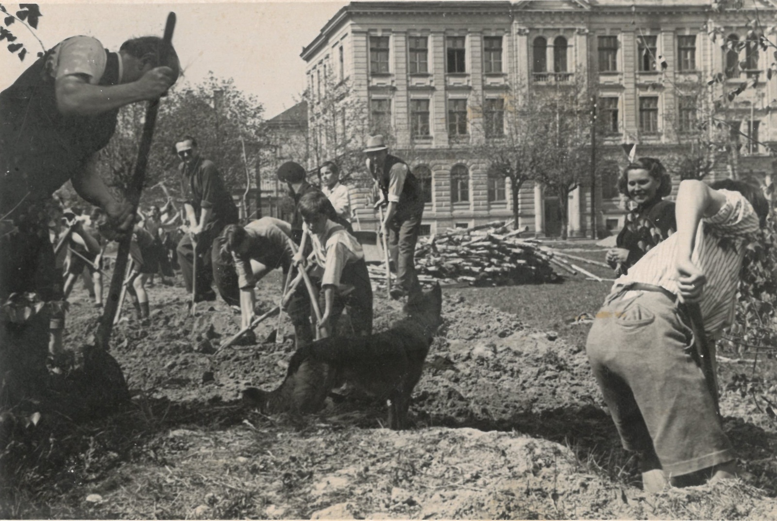
M 605 261 L 605 249 L 594 245 L 577 245 L 571 243 L 546 244 L 554 249 L 570 249 L 571 255 L 577 255 L 586 259 L 599 262 Z M 559 247 L 564 245 L 565 247 Z M 577 251 L 577 249 L 589 251 Z M 583 269 L 595 275 L 613 278 L 611 270 L 592 266 L 583 262 L 571 260 Z M 556 268 L 556 273 L 562 275 L 562 283 L 556 284 L 525 284 L 509 287 L 471 287 L 445 290 L 446 293 L 460 294 L 467 300 L 474 300 L 489 304 L 501 311 L 514 313 L 518 319 L 528 328 L 540 331 L 555 331 L 559 337 L 567 342 L 577 344 L 580 348 L 585 346 L 589 325 L 571 325 L 577 315 L 582 313 L 596 314 L 599 307 L 605 301 L 612 283 L 609 281 L 597 282 L 586 280 L 581 273 L 571 275 L 561 268 Z

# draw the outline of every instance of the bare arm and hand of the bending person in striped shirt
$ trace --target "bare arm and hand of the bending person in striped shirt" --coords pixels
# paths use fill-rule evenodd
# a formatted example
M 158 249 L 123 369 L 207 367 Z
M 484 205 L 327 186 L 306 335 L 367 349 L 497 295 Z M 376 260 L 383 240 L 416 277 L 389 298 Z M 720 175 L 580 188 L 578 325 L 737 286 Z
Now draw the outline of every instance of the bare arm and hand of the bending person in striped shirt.
M 678 251 L 675 266 L 681 302 L 696 302 L 702 297 L 707 278 L 692 260 L 696 231 L 702 217 L 712 217 L 726 203 L 726 196 L 705 182 L 686 179 L 680 183 L 674 216 L 678 223 Z

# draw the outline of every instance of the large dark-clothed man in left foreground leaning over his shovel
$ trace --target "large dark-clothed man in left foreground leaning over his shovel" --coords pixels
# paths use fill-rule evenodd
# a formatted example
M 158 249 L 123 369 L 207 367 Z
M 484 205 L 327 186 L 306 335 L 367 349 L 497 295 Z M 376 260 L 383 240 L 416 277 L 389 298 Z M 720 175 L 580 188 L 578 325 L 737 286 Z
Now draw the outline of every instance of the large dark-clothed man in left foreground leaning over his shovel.
M 49 328 L 64 327 L 61 273 L 54 269 L 44 212 L 54 190 L 70 180 L 78 195 L 106 210 L 112 228 L 131 231 L 131 205 L 100 179 L 97 153 L 113 136 L 120 107 L 157 99 L 176 82 L 176 52 L 170 46 L 160 63 L 161 46 L 162 39 L 145 36 L 113 53 L 92 37 L 73 36 L 0 93 L 2 402 L 40 390 Z M 45 304 L 11 325 L 8 311 L 26 304 L 9 297 L 24 293 Z

